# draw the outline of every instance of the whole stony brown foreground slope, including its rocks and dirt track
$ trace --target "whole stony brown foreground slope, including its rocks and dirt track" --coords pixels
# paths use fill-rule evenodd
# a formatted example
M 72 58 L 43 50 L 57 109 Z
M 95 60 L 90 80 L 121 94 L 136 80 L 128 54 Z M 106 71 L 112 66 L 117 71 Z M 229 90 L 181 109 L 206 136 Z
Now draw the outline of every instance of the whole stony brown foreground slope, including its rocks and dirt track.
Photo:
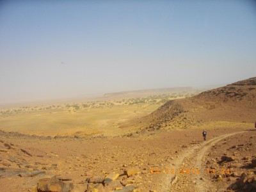
M 1 191 L 252 191 L 256 131 L 221 138 L 238 131 L 209 130 L 206 142 L 196 129 L 126 138 L 1 132 Z

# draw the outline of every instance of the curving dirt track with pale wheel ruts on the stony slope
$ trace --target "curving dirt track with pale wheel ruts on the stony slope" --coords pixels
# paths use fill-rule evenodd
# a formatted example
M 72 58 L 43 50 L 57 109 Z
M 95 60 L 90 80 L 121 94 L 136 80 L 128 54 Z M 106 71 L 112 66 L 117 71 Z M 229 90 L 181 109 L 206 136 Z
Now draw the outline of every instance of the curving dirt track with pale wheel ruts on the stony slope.
M 204 178 L 207 175 L 207 168 L 202 166 L 205 154 L 215 143 L 243 132 L 246 131 L 224 134 L 202 143 L 193 143 L 193 147 L 185 150 L 170 165 L 170 168 L 165 170 L 168 174 L 166 174 L 167 177 L 163 180 L 162 188 L 159 191 L 216 191 L 211 182 Z

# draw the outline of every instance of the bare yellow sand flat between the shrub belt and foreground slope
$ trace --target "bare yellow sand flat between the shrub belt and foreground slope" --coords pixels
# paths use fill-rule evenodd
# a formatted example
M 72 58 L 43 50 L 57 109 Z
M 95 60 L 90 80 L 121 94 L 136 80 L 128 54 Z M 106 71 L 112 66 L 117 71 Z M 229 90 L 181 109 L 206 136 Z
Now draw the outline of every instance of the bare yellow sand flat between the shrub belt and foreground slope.
M 156 110 L 161 104 L 134 104 L 131 106 L 97 106 L 97 108 L 45 109 L 29 108 L 20 113 L 0 115 L 0 130 L 17 131 L 40 136 L 120 135 L 130 129 L 119 129 L 126 120 L 140 118 Z M 36 110 L 38 109 L 38 110 Z M 14 109 L 15 110 L 15 109 Z M 17 110 L 17 109 L 16 109 Z

